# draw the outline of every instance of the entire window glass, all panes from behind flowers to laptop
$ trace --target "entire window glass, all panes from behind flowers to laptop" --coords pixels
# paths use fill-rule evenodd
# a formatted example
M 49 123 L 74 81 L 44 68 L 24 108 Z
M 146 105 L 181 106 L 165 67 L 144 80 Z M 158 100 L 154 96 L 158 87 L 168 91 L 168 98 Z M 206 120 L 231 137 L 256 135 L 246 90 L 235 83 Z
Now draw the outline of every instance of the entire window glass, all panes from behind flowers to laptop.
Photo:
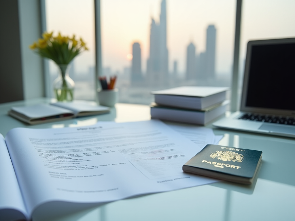
M 94 1 L 45 2 L 48 31 L 75 33 L 88 43 L 90 51 L 75 58 L 70 75 L 76 83 L 75 99 L 94 100 Z M 102 75 L 118 76 L 120 102 L 149 104 L 150 91 L 182 85 L 230 86 L 235 0 L 101 0 L 100 4 Z M 292 0 L 243 1 L 239 90 L 247 42 L 294 37 L 294 6 Z M 52 85 L 58 69 L 53 62 L 49 69 Z

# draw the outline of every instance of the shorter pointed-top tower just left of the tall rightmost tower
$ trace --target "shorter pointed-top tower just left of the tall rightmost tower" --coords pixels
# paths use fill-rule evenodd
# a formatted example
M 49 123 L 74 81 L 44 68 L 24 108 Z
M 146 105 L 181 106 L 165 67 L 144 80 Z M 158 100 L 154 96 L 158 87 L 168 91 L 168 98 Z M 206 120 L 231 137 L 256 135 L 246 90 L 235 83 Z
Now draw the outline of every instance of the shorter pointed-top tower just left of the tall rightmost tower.
M 186 52 L 186 79 L 196 80 L 196 47 L 191 42 Z

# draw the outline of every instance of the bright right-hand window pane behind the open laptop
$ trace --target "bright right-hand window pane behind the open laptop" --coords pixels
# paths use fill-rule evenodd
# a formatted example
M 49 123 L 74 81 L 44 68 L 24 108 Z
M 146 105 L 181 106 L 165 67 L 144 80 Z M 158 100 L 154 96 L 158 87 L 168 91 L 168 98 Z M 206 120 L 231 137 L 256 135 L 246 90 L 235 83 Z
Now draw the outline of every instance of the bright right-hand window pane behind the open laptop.
M 289 0 L 243 1 L 239 85 L 242 85 L 248 41 L 295 37 L 294 8 L 295 1 Z M 239 98 L 241 90 L 239 87 Z

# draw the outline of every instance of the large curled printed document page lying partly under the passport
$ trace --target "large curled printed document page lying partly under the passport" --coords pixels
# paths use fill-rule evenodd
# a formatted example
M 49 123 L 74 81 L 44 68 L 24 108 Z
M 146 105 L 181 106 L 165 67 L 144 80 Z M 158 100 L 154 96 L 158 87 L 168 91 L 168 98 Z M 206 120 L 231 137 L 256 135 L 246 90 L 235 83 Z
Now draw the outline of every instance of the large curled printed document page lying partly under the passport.
M 6 143 L 29 213 L 54 200 L 109 202 L 216 182 L 183 173 L 201 148 L 157 120 L 15 128 Z

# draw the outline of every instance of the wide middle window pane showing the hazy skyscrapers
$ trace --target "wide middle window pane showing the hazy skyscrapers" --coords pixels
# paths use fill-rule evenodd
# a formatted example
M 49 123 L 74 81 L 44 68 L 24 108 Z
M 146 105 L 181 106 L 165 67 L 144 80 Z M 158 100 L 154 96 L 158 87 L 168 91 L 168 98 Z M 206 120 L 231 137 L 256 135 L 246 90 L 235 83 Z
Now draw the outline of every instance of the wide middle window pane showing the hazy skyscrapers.
M 230 86 L 236 1 L 101 0 L 103 75 L 120 102 L 149 104 L 150 91 Z

